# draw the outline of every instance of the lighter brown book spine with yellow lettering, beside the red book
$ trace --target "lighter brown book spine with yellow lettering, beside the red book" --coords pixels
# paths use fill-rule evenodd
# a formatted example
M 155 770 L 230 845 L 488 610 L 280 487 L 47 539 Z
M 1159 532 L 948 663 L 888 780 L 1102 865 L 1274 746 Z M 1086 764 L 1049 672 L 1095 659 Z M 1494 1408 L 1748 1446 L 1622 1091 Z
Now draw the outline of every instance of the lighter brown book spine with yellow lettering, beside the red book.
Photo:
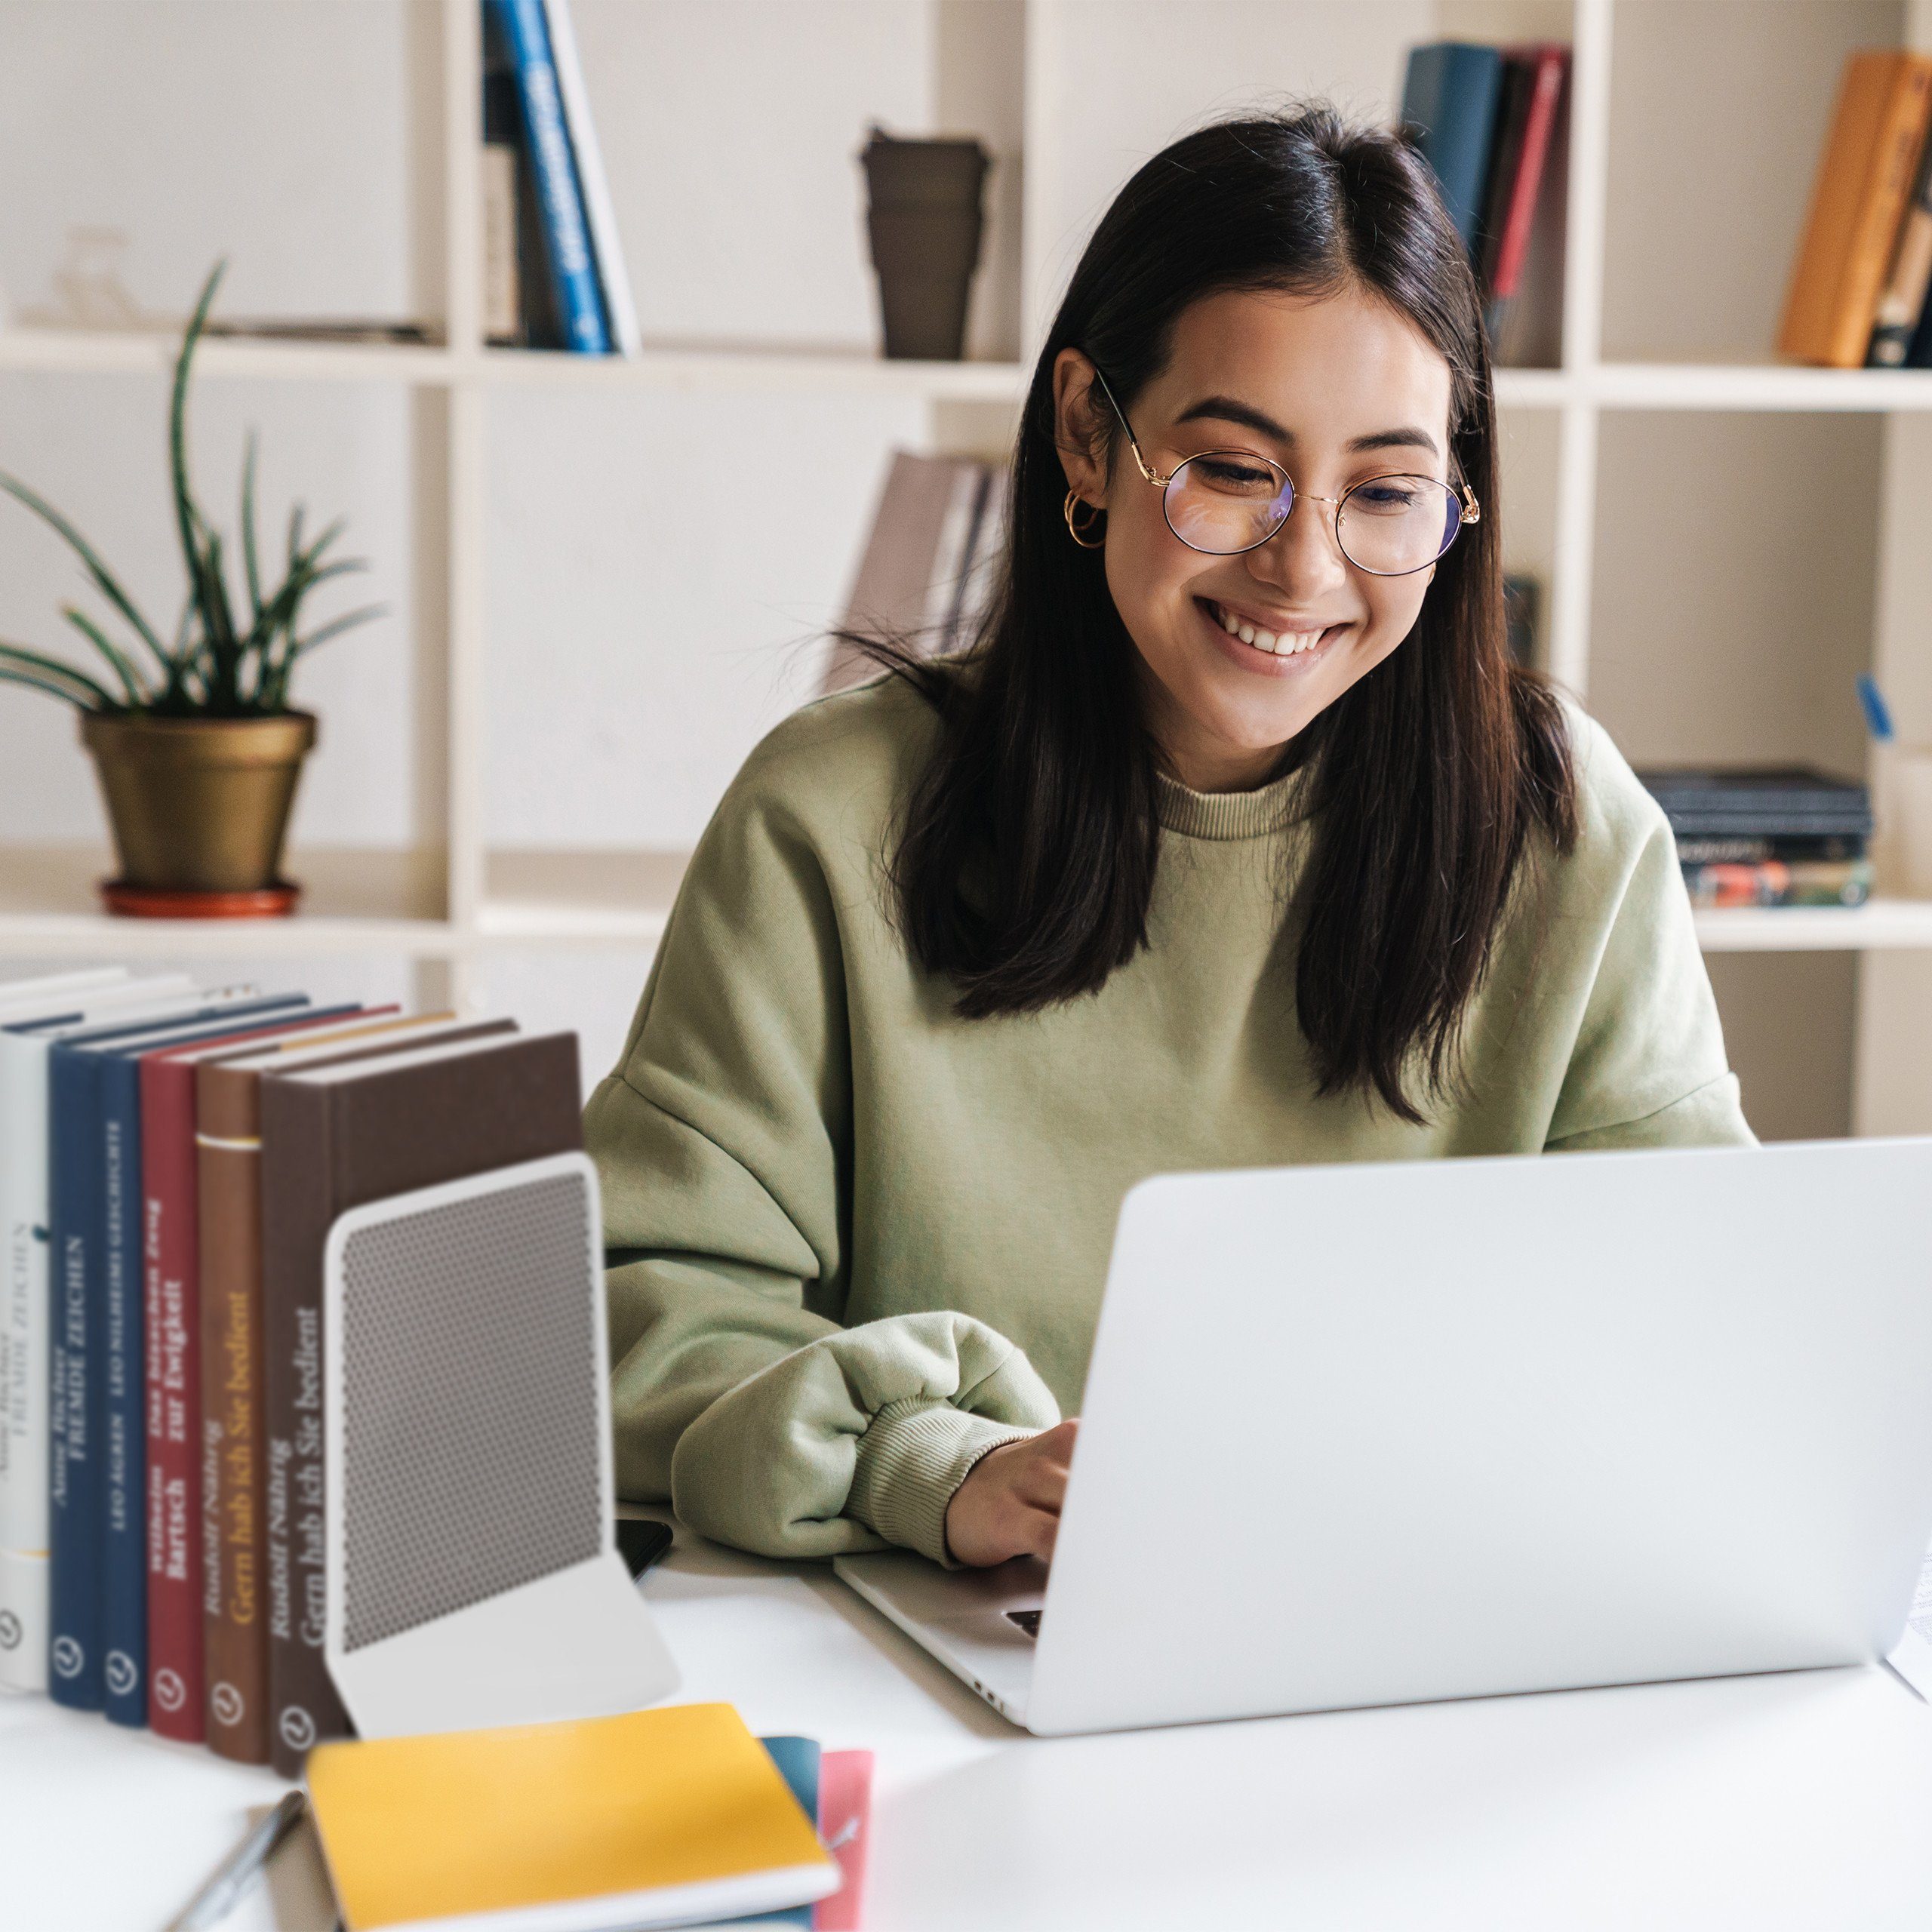
M 201 1229 L 201 1430 L 207 1509 L 203 1654 L 211 1748 L 269 1762 L 261 1565 L 261 1200 L 255 1080 L 195 1068 Z

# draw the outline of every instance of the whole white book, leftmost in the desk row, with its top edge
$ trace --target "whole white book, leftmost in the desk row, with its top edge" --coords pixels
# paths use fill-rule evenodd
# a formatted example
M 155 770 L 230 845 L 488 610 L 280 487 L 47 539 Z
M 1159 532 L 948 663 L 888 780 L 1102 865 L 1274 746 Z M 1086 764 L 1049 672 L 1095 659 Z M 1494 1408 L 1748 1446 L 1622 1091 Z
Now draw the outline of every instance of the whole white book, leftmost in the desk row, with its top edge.
M 0 1003 L 0 1685 L 14 1690 L 46 1689 L 46 1049 L 89 1028 L 160 1020 L 218 997 L 187 974 L 108 974 Z M 8 1030 L 56 1018 L 37 1032 Z

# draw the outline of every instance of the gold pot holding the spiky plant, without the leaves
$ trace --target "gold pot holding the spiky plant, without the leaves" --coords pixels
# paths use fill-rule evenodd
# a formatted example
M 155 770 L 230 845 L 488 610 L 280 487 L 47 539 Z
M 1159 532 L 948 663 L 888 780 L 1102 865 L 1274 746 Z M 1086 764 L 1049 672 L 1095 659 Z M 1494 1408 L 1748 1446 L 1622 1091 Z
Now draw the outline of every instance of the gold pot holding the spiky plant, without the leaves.
M 315 717 L 156 719 L 81 713 L 81 744 L 133 893 L 267 893 L 280 887 L 282 840 Z

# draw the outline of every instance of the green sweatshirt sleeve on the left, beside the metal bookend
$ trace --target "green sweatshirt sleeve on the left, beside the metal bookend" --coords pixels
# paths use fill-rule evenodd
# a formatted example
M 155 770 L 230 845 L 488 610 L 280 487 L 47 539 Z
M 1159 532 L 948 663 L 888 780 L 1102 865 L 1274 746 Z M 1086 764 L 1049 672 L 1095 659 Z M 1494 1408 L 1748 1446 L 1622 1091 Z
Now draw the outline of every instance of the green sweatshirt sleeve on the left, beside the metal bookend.
M 945 1563 L 972 1464 L 1059 1420 L 981 1321 L 842 1325 L 852 1082 L 837 893 L 759 757 L 678 893 L 583 1117 L 603 1186 L 618 1493 L 775 1557 Z

